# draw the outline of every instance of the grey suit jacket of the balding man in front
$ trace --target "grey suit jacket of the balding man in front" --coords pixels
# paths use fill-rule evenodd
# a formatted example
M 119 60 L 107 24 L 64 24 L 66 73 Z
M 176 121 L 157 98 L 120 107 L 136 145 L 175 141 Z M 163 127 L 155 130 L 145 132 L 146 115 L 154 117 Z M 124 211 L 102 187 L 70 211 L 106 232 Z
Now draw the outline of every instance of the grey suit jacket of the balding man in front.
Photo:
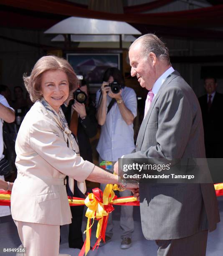
M 200 105 L 177 71 L 165 79 L 152 101 L 136 152 L 124 158 L 205 158 Z M 140 183 L 139 194 L 142 231 L 149 240 L 212 231 L 220 221 L 213 184 Z

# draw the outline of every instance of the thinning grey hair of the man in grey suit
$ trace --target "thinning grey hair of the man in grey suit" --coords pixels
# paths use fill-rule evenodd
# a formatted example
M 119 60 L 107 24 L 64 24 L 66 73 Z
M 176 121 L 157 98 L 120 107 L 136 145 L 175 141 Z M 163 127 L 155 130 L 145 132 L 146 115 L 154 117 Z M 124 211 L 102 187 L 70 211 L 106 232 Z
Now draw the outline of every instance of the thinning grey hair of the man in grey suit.
M 165 44 L 154 34 L 146 34 L 137 38 L 129 47 L 131 47 L 140 42 L 142 45 L 142 55 L 148 56 L 150 52 L 153 52 L 158 59 L 166 60 L 168 64 L 170 64 L 170 55 L 169 50 L 165 46 Z

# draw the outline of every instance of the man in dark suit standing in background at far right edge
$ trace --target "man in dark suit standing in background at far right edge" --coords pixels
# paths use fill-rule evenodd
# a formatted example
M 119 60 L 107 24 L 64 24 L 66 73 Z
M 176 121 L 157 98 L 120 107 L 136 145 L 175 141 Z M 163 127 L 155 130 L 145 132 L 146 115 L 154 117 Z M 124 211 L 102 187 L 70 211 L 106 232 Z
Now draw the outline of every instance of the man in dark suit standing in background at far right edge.
M 204 79 L 206 94 L 199 97 L 207 158 L 223 158 L 223 94 L 216 92 L 215 77 Z

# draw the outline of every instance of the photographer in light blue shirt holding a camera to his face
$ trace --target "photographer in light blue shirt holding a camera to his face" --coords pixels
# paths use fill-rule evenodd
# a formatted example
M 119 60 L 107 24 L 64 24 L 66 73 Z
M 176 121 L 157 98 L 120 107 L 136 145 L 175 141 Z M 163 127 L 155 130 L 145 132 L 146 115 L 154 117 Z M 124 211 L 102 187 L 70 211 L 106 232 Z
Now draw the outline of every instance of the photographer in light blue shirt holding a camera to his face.
M 124 77 L 117 68 L 109 68 L 104 73 L 101 90 L 96 93 L 96 118 L 101 125 L 101 136 L 97 146 L 99 163 L 114 163 L 124 154 L 134 151 L 133 120 L 137 115 L 137 98 L 134 90 L 124 86 Z M 115 83 L 115 84 L 114 84 Z M 117 87 L 118 90 L 117 90 Z M 113 90 L 113 92 L 112 92 Z M 128 152 L 128 153 L 127 153 Z M 101 184 L 101 189 L 105 185 Z M 122 197 L 130 196 L 130 191 L 123 191 Z M 121 206 L 120 226 L 122 228 L 121 248 L 132 245 L 134 231 L 133 206 Z M 112 214 L 109 214 L 105 241 L 112 237 Z M 101 241 L 100 246 L 104 243 Z

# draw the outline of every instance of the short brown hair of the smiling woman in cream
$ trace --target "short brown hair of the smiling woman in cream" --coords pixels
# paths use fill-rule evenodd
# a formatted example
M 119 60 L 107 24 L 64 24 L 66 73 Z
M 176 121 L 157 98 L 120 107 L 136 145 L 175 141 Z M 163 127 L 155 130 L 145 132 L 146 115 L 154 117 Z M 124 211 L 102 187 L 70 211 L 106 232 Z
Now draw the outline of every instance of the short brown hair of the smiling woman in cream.
M 68 63 L 68 61 L 66 61 L 66 59 L 51 55 L 43 56 L 36 62 L 30 76 L 27 76 L 25 74 L 23 75 L 25 88 L 28 91 L 32 102 L 40 100 L 42 97 L 40 92 L 42 74 L 48 70 L 57 69 L 62 70 L 66 73 L 70 91 L 77 88 L 79 80 L 75 72 L 73 71 L 73 68 Z

